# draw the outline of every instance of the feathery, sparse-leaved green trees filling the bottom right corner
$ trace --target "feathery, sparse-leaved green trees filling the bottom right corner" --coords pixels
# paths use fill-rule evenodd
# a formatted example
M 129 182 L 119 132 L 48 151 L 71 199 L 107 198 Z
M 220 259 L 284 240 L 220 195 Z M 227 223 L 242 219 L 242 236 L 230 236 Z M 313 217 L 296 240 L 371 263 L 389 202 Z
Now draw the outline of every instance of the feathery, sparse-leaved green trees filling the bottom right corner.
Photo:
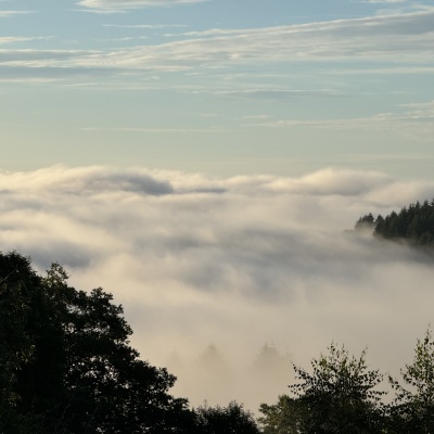
M 369 370 L 365 352 L 349 357 L 334 344 L 311 362 L 312 373 L 294 367 L 299 383 L 275 405 L 263 404 L 263 434 L 432 434 L 434 433 L 434 340 L 427 329 L 414 360 L 401 370 L 403 383 L 388 378 L 391 404 L 378 390 L 382 375 Z

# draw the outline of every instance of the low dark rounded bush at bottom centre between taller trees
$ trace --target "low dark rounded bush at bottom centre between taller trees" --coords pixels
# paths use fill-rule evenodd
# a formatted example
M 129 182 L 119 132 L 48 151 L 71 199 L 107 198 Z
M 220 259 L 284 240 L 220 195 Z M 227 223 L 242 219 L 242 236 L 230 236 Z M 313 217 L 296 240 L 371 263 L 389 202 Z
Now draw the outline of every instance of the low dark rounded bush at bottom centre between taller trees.
M 195 417 L 194 434 L 259 434 L 253 414 L 237 403 L 228 407 L 199 407 Z

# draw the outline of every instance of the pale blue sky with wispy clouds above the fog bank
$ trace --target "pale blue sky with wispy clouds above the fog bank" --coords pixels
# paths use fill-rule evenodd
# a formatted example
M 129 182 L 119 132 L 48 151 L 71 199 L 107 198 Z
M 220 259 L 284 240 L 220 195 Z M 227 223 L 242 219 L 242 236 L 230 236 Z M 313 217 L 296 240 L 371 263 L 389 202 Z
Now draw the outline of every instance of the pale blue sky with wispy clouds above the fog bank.
M 434 2 L 0 1 L 2 169 L 432 174 Z

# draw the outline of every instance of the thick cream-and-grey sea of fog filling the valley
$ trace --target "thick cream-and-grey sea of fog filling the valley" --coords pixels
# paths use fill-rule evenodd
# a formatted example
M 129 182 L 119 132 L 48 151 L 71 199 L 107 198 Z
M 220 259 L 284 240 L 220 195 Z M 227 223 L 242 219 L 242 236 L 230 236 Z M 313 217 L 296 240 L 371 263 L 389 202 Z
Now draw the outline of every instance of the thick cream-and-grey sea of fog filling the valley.
M 193 405 L 257 410 L 332 342 L 399 373 L 433 321 L 433 259 L 356 235 L 356 220 L 434 196 L 434 182 L 54 166 L 0 174 L 0 248 L 59 261 L 122 304 L 144 359 Z

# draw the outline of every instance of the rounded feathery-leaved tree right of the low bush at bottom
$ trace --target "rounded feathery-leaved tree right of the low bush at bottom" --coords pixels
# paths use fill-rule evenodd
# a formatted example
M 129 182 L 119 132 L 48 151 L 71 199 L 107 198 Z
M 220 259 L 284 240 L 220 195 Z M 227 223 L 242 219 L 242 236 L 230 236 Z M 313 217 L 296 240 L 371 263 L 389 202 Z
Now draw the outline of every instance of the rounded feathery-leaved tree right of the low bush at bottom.
M 359 358 L 350 357 L 344 346 L 334 343 L 328 355 L 311 361 L 312 373 L 293 365 L 299 383 L 290 385 L 293 398 L 281 399 L 286 411 L 289 429 L 269 433 L 299 434 L 375 434 L 382 432 L 381 396 L 375 387 L 382 381 L 378 370 L 369 370 L 366 352 Z M 265 429 L 279 407 L 267 408 Z M 268 425 L 267 425 L 268 423 Z M 280 423 L 280 422 L 279 422 Z M 292 430 L 292 431 L 291 431 Z

